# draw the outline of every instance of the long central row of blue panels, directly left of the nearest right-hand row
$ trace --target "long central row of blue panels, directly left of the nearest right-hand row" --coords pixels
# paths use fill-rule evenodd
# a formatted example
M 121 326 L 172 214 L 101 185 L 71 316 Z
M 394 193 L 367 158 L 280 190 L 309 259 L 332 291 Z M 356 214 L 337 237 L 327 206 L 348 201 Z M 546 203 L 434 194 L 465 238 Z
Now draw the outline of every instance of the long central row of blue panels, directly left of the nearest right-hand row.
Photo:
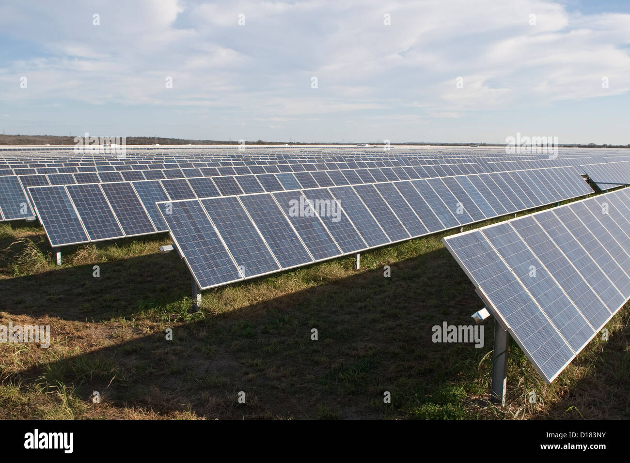
M 200 289 L 592 193 L 564 169 L 157 202 Z

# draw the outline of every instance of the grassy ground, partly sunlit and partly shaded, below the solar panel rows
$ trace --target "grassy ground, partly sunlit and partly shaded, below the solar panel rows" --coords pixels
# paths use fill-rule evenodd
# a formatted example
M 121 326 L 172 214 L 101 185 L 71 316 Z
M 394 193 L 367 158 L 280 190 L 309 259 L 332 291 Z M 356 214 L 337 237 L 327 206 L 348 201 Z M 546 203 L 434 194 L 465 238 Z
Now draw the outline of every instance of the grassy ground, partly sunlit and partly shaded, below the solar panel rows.
M 64 249 L 57 267 L 42 229 L 1 224 L 0 324 L 52 340 L 0 344 L 0 418 L 630 418 L 627 306 L 551 386 L 512 343 L 507 406 L 488 403 L 492 324 L 483 348 L 431 341 L 482 305 L 450 233 L 362 253 L 360 270 L 339 258 L 209 290 L 193 312 L 183 261 L 157 252 L 168 236 Z

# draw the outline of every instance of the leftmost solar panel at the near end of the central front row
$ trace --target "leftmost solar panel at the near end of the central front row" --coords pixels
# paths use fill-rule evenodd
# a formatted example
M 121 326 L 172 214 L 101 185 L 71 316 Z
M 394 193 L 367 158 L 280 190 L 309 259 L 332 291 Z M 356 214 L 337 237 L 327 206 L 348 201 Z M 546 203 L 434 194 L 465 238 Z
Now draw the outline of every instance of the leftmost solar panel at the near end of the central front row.
M 197 200 L 159 203 L 158 208 L 200 289 L 243 279 Z

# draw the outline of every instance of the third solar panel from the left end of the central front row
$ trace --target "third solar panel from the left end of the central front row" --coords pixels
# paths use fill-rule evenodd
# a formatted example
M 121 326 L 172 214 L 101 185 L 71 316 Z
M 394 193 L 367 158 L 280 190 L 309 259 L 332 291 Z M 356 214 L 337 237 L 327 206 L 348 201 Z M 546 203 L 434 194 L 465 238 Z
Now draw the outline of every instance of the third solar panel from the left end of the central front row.
M 313 261 L 289 219 L 270 194 L 248 195 L 240 200 L 282 268 Z

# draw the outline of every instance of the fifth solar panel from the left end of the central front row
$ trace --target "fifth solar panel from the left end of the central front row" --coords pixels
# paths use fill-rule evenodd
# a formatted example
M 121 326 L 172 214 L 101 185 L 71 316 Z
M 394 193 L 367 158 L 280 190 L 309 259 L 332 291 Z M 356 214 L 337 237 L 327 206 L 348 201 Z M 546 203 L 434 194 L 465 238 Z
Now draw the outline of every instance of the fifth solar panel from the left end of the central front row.
M 302 193 L 344 254 L 362 251 L 368 247 L 328 190 L 318 188 L 304 190 Z

